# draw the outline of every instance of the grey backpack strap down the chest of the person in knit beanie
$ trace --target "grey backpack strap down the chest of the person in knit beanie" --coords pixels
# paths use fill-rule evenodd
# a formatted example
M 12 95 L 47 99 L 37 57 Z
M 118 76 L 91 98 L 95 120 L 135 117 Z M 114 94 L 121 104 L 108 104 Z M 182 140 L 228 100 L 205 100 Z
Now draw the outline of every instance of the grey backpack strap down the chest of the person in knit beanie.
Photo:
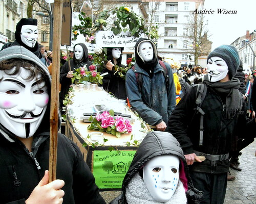
M 204 84 L 198 84 L 197 86 L 197 113 L 199 112 L 201 114 L 200 116 L 200 136 L 199 136 L 199 146 L 203 146 L 203 132 L 204 132 L 204 111 L 201 109 L 201 105 L 204 101 L 204 98 L 206 96 L 207 87 Z

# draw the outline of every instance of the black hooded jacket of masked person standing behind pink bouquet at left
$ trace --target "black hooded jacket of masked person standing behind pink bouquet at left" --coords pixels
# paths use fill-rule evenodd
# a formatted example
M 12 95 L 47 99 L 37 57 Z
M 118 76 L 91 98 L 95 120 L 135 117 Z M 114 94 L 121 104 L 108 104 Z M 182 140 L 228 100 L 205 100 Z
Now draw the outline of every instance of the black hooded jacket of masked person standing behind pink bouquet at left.
M 83 57 L 81 60 L 77 60 L 75 55 L 73 59 L 70 60 L 70 68 L 71 71 L 74 71 L 75 69 L 84 66 L 85 64 L 87 65 L 87 69 L 89 70 L 89 66 L 92 65 L 92 62 L 88 60 L 88 49 L 87 46 L 83 43 L 77 43 L 76 45 L 81 45 L 83 48 Z M 74 46 L 74 53 L 75 53 L 75 47 Z M 63 107 L 62 101 L 65 98 L 65 95 L 69 92 L 70 85 L 72 84 L 71 79 L 67 78 L 67 74 L 70 71 L 69 69 L 69 62 L 67 61 L 63 66 L 60 68 L 60 75 L 59 75 L 59 82 L 61 84 L 61 89 L 60 89 L 60 95 L 59 95 L 59 103 L 60 103 L 60 108 Z

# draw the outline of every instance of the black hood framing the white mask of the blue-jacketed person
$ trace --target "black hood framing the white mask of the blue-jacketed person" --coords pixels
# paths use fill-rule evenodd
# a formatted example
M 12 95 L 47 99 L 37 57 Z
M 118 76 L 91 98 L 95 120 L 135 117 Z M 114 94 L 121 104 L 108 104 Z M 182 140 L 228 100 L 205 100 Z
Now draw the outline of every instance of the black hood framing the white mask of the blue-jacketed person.
M 150 61 L 150 62 L 144 62 L 144 60 L 142 59 L 141 55 L 139 54 L 139 45 L 142 42 L 150 42 L 152 44 L 152 46 L 153 46 L 154 57 L 153 57 L 153 60 Z M 150 40 L 150 39 L 139 38 L 138 41 L 135 44 L 135 60 L 136 60 L 136 63 L 139 65 L 139 67 L 141 67 L 142 69 L 144 69 L 146 71 L 148 69 L 154 70 L 154 67 L 158 63 L 158 60 L 157 60 L 157 46 L 156 46 L 156 44 L 152 40 Z

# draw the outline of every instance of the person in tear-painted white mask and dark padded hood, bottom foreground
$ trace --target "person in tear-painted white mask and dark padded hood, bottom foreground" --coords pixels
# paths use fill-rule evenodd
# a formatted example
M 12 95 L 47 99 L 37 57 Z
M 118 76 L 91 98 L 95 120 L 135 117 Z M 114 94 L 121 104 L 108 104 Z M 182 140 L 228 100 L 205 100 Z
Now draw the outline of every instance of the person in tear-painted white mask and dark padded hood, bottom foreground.
M 166 157 L 168 159 L 165 161 Z M 178 166 L 172 163 L 168 164 L 168 173 L 165 174 L 165 163 L 169 163 L 168 160 L 173 160 L 173 157 L 178 158 L 179 164 Z M 159 158 L 163 161 L 159 166 L 152 168 L 156 186 L 151 188 L 152 181 L 147 175 L 150 172 L 148 165 L 151 165 L 152 160 Z M 179 179 L 174 180 L 174 177 Z M 200 203 L 202 195 L 202 191 L 194 188 L 179 142 L 170 133 L 154 131 L 148 133 L 142 140 L 129 170 L 124 176 L 121 194 L 110 203 Z

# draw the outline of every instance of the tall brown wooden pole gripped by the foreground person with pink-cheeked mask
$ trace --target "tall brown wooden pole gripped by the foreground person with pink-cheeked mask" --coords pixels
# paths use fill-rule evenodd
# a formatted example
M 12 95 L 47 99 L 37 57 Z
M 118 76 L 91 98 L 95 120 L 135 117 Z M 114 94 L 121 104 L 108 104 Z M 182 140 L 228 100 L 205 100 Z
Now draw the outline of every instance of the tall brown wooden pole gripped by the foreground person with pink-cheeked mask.
M 51 111 L 50 111 L 49 182 L 56 180 L 62 4 L 63 4 L 63 0 L 54 1 L 53 62 L 52 62 L 53 66 L 52 66 Z

